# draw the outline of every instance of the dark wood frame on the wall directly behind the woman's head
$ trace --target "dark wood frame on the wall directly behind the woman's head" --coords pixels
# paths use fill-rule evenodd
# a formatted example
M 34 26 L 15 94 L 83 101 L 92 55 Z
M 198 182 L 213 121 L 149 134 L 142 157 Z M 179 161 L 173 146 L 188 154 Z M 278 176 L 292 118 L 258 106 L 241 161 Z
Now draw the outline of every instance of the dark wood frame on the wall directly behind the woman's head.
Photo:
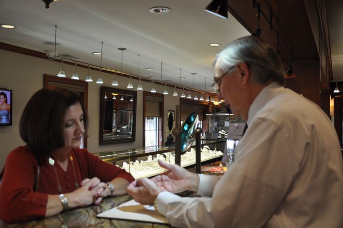
M 87 112 L 88 112 L 88 82 L 81 81 L 81 80 L 74 80 L 71 78 L 57 77 L 57 76 L 48 75 L 48 74 L 44 75 L 43 81 L 44 81 L 43 82 L 44 88 L 47 88 L 49 86 L 49 82 L 55 82 L 55 83 L 59 83 L 59 84 L 83 87 L 83 89 L 84 89 L 84 91 L 83 91 L 83 105 L 84 105 L 85 110 L 87 110 Z M 84 146 L 84 148 L 87 148 L 87 137 L 84 137 L 83 146 Z

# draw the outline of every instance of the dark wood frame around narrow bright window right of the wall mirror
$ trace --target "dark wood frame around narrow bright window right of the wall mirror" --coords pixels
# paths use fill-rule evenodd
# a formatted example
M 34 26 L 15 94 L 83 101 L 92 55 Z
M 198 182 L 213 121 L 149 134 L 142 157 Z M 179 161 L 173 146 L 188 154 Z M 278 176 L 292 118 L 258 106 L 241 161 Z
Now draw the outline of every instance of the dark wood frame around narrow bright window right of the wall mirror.
M 164 129 L 164 95 L 163 94 L 160 94 L 160 93 L 151 93 L 151 92 L 147 92 L 147 91 L 143 91 L 143 147 L 145 147 L 145 109 L 146 109 L 146 105 L 145 105 L 145 97 L 146 96 L 153 96 L 153 97 L 159 97 L 159 98 L 162 98 L 162 102 L 161 102 L 161 109 L 160 109 L 160 115 L 161 115 L 161 120 L 160 120 L 160 126 L 159 126 L 159 129 L 158 129 L 158 138 L 161 140 L 159 140 L 159 144 L 163 144 L 164 142 L 164 134 L 163 134 L 163 129 Z M 160 145 L 161 145 L 160 144 Z

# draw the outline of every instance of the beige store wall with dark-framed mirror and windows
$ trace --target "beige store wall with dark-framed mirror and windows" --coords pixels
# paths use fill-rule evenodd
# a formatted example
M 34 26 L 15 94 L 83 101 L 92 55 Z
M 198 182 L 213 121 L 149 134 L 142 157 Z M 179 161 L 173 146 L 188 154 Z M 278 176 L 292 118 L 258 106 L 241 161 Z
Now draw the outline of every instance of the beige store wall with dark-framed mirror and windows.
M 12 126 L 0 127 L 0 168 L 5 164 L 7 155 L 18 146 L 24 146 L 25 142 L 19 135 L 19 120 L 26 106 L 26 103 L 31 96 L 43 88 L 43 75 L 56 75 L 60 70 L 60 63 L 48 59 L 37 58 L 25 54 L 19 54 L 11 51 L 0 50 L 0 88 L 9 88 L 13 90 L 12 104 Z M 67 77 L 71 77 L 74 72 L 74 66 L 65 64 L 64 70 Z M 117 69 L 116 69 L 117 70 Z M 87 68 L 77 67 L 77 73 L 80 79 L 85 79 L 88 73 Z M 87 148 L 91 153 L 104 151 L 119 151 L 142 147 L 142 126 L 143 126 L 143 90 L 137 91 L 137 115 L 136 115 L 136 141 L 128 143 L 99 145 L 99 118 L 100 118 L 100 88 L 101 86 L 112 87 L 113 74 L 101 73 L 104 84 L 96 84 L 95 81 L 99 76 L 99 72 L 91 70 L 93 82 L 89 82 L 88 86 L 88 115 L 89 115 L 89 137 Z M 152 75 L 156 79 L 160 75 Z M 117 76 L 119 83 L 118 89 L 126 89 L 129 78 Z M 138 86 L 138 80 L 133 79 L 132 83 L 135 89 Z M 150 91 L 152 84 L 148 81 L 141 81 L 145 91 Z M 155 84 L 158 93 L 162 93 L 164 86 Z M 127 89 L 128 90 L 128 89 Z M 169 110 L 176 110 L 179 105 L 180 95 L 182 90 L 176 89 L 179 96 L 173 96 L 174 87 L 167 87 L 168 95 L 164 95 L 164 126 L 163 136 L 166 141 L 167 132 L 167 116 Z M 190 93 L 192 97 L 194 93 Z M 198 94 L 199 95 L 199 94 Z M 175 123 L 174 123 L 175 126 Z

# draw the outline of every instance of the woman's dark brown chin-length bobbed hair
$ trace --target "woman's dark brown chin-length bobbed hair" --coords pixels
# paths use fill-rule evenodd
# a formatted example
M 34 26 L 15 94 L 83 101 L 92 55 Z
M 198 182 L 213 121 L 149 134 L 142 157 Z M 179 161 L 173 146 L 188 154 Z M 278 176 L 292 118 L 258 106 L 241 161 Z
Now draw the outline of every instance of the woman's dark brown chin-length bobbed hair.
M 84 136 L 87 136 L 88 117 L 81 97 L 67 89 L 48 87 L 38 90 L 27 103 L 20 118 L 20 137 L 37 154 L 47 154 L 65 146 L 65 113 L 76 103 L 81 105 L 84 115 Z

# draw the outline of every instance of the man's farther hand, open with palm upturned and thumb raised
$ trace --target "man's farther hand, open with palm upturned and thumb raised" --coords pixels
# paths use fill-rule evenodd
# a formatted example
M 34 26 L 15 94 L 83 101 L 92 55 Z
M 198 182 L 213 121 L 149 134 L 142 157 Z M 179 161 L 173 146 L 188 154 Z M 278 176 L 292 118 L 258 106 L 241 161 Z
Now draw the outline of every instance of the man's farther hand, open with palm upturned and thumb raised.
M 197 174 L 188 172 L 177 164 L 168 164 L 161 160 L 158 160 L 158 163 L 168 171 L 151 178 L 157 186 L 171 193 L 180 193 L 186 190 L 198 191 L 199 176 Z

